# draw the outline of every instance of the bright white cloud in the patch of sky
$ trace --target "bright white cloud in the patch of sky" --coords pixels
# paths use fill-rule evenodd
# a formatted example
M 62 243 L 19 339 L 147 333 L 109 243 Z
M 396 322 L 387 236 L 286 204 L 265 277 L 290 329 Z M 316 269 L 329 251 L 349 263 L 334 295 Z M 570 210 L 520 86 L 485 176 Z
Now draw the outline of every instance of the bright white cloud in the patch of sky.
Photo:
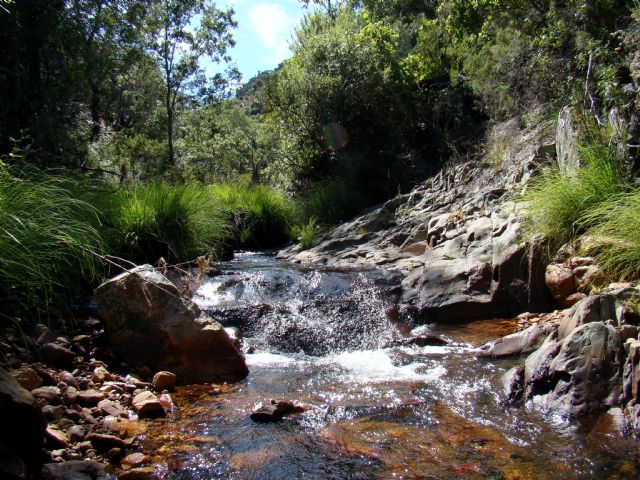
M 260 40 L 266 48 L 273 51 L 273 55 L 282 53 L 283 46 L 286 52 L 289 32 L 297 19 L 287 15 L 284 8 L 275 3 L 256 5 L 249 12 L 249 19 Z

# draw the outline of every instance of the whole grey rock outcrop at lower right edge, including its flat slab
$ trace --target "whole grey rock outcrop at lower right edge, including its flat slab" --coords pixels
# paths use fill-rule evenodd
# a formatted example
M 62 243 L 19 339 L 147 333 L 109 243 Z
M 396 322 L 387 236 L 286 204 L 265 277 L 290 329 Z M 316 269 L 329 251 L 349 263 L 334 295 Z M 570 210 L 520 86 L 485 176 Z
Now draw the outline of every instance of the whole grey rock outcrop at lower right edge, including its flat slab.
M 586 297 L 566 310 L 524 364 L 504 375 L 507 400 L 530 401 L 566 417 L 620 407 L 640 433 L 640 342 L 638 328 L 627 323 L 635 318 L 626 306 L 639 293 L 622 288 Z M 491 342 L 480 352 L 518 353 L 521 345 L 532 343 L 534 329 Z

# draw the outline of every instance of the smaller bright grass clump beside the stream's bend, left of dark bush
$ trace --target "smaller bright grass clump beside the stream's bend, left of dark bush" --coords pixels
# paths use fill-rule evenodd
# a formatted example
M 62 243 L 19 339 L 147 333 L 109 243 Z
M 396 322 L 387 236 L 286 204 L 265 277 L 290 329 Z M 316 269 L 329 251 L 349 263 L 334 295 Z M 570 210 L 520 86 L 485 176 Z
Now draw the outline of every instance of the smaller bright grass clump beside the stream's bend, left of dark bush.
M 232 219 L 240 248 L 272 248 L 290 240 L 295 208 L 282 192 L 240 183 L 215 184 L 209 190 Z

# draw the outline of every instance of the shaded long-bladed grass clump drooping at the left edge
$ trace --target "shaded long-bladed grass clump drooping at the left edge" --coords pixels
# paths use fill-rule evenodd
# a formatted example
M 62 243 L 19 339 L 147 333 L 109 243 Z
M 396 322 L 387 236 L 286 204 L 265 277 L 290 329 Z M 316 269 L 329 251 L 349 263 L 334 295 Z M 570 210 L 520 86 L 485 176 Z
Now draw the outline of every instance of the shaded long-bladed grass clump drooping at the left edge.
M 69 305 L 103 272 L 98 210 L 82 196 L 99 185 L 59 170 L 0 163 L 0 296 L 5 315 Z

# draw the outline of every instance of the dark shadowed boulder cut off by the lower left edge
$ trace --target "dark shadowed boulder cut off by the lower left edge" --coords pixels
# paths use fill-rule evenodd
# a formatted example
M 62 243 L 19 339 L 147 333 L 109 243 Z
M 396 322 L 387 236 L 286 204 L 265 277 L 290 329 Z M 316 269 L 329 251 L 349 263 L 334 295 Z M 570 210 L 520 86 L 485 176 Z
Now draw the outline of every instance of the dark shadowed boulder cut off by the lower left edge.
M 0 449 L 33 468 L 44 446 L 47 422 L 36 399 L 0 368 Z

